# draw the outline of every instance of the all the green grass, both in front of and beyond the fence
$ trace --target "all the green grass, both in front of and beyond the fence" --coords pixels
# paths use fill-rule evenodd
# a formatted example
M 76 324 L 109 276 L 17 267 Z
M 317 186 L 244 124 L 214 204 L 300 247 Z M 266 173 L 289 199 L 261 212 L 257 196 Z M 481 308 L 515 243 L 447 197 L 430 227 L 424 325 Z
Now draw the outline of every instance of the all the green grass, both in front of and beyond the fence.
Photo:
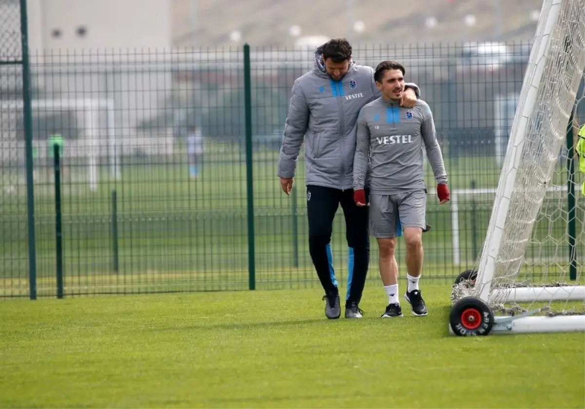
M 446 167 L 452 189 L 497 185 L 490 158 L 448 160 Z M 228 145 L 213 147 L 197 181 L 181 158 L 136 160 L 123 164 L 121 181 L 101 169 L 98 190 L 90 192 L 87 167 L 73 167 L 63 184 L 66 299 L 0 306 L 0 408 L 582 406 L 583 334 L 448 335 L 450 284 L 483 245 L 493 195 L 459 198 L 462 265 L 452 263 L 452 203 L 439 206 L 429 196 L 433 228 L 424 235 L 421 282 L 428 317 L 379 318 L 386 296 L 372 241 L 360 304 L 366 316 L 328 321 L 308 255 L 304 163 L 292 197 L 280 192 L 275 169 L 274 152 L 257 152 L 257 291 L 249 292 L 246 169 Z M 16 189 L 0 203 L 0 297 L 26 297 L 25 189 L 15 172 L 2 176 Z M 430 171 L 427 177 L 432 186 Z M 566 254 L 565 210 L 546 203 L 550 217 L 537 224 L 535 238 L 555 240 L 528 252 L 542 260 Z M 56 294 L 54 205 L 52 183 L 38 182 L 39 296 Z M 332 245 L 345 285 L 341 211 Z M 403 256 L 399 242 L 401 276 Z M 552 265 L 525 266 L 521 274 L 558 279 Z M 163 292 L 171 294 L 142 294 Z M 78 297 L 92 294 L 104 295 Z

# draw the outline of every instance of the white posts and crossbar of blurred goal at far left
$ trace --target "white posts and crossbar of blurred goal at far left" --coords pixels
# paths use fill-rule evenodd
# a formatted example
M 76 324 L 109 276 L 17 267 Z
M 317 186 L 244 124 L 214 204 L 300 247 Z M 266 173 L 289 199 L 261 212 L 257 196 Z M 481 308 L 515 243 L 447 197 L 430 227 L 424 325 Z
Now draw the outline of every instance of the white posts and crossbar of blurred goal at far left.
M 85 140 L 84 150 L 88 165 L 88 183 L 95 191 L 98 187 L 98 157 L 100 140 L 107 138 L 109 169 L 112 178 L 119 179 L 120 163 L 115 126 L 115 106 L 112 99 L 84 98 L 84 99 L 33 99 L 31 102 L 32 114 L 47 114 L 51 112 L 71 111 L 82 115 L 82 127 Z M 0 101 L 0 112 L 4 117 L 22 115 L 22 100 Z M 100 113 L 105 112 L 106 129 L 101 125 Z

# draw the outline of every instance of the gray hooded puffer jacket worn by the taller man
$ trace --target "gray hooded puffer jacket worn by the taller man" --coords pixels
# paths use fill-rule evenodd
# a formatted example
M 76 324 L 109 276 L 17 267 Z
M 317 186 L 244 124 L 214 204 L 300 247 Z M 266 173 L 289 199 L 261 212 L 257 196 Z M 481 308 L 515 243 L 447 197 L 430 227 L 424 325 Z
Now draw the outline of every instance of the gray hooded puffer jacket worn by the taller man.
M 306 184 L 352 189 L 357 115 L 364 105 L 380 96 L 380 91 L 373 68 L 353 61 L 347 74 L 340 81 L 333 81 L 325 72 L 321 50 L 319 47 L 315 51 L 313 70 L 292 85 L 278 156 L 278 176 L 294 177 L 305 140 Z M 407 86 L 420 96 L 417 85 Z

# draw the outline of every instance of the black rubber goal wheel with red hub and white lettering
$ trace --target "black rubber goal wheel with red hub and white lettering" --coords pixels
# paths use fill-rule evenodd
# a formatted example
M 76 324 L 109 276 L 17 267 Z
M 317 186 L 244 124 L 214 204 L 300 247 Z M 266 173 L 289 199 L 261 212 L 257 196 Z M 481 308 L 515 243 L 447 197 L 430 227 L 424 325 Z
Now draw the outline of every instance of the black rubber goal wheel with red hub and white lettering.
M 452 307 L 449 324 L 459 337 L 487 335 L 494 326 L 494 314 L 479 298 L 464 297 Z

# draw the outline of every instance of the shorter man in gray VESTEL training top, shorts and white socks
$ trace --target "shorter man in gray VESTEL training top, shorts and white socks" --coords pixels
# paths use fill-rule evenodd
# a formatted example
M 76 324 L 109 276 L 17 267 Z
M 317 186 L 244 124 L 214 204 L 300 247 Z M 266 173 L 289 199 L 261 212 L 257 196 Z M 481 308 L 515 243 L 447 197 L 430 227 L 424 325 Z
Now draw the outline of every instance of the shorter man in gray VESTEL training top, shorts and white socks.
M 383 318 L 402 317 L 398 300 L 396 237 L 404 232 L 407 245 L 408 288 L 404 298 L 412 314 L 426 316 L 418 282 L 422 271 L 422 232 L 426 228 L 426 186 L 422 147 L 431 163 L 441 203 L 449 200 L 449 188 L 441 147 L 428 104 L 418 100 L 414 108 L 402 108 L 404 67 L 383 61 L 374 72 L 380 98 L 364 105 L 357 119 L 357 146 L 353 162 L 353 192 L 357 206 L 370 206 L 370 234 L 377 238 L 380 276 L 388 296 Z M 364 183 L 370 167 L 370 203 Z

